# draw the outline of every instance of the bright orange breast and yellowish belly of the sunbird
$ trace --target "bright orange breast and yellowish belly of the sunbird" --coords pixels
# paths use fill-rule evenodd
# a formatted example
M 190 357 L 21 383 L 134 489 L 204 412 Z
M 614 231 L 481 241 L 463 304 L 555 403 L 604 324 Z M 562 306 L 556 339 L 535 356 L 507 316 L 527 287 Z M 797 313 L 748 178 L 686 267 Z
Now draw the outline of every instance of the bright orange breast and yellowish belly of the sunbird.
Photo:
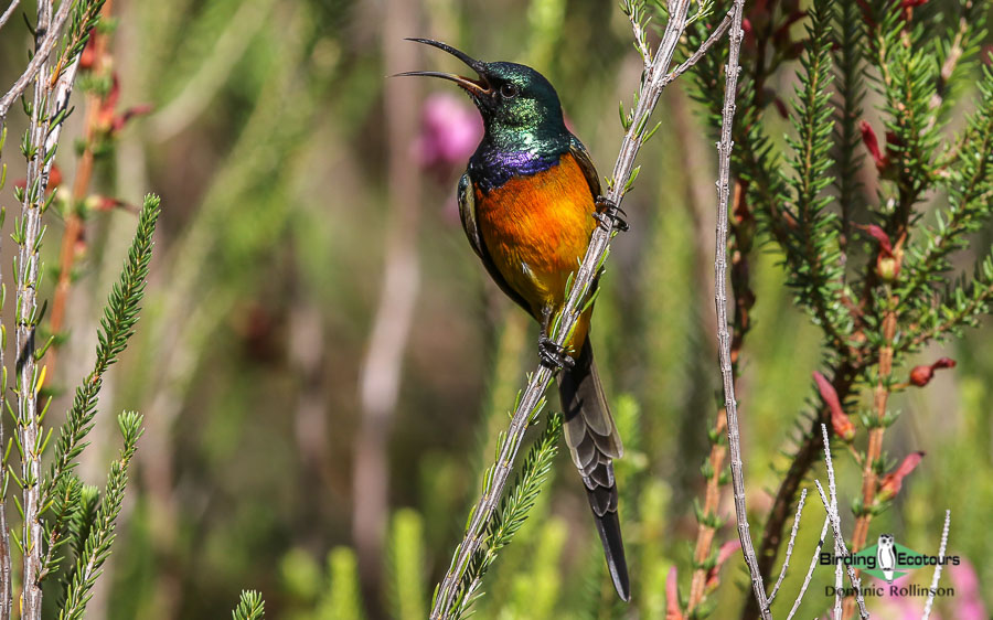
M 477 191 L 476 205 L 482 240 L 500 275 L 536 319 L 545 308 L 558 312 L 569 274 L 579 268 L 597 224 L 594 196 L 572 153 L 488 194 Z M 576 325 L 575 351 L 586 340 L 589 313 Z

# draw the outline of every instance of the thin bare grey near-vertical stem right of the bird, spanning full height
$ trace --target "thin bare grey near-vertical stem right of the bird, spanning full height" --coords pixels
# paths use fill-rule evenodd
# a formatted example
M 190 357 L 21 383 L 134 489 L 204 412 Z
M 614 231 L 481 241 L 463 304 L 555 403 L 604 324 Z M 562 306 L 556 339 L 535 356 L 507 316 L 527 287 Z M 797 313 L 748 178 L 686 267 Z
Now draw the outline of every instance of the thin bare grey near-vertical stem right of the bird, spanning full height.
M 738 539 L 751 576 L 751 589 L 764 620 L 772 616 L 766 605 L 766 588 L 758 568 L 758 558 L 751 535 L 748 533 L 748 512 L 745 505 L 745 475 L 741 471 L 741 435 L 738 427 L 738 404 L 735 398 L 735 381 L 732 371 L 730 335 L 727 330 L 727 205 L 730 195 L 732 128 L 735 120 L 735 96 L 738 89 L 738 54 L 741 50 L 741 14 L 745 0 L 735 0 L 730 25 L 730 49 L 725 67 L 724 110 L 720 119 L 720 141 L 717 143 L 717 239 L 714 259 L 714 300 L 717 307 L 717 341 L 720 376 L 724 382 L 724 408 L 727 411 L 727 442 L 730 450 L 732 488 L 735 494 L 735 517 L 738 522 Z

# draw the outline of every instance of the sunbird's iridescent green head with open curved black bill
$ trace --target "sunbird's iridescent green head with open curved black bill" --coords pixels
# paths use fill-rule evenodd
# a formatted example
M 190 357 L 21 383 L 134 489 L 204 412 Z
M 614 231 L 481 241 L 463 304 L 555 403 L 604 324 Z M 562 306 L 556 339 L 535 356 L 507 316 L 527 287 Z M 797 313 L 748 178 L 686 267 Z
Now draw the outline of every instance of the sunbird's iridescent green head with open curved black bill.
M 399 75 L 424 75 L 450 79 L 472 98 L 483 117 L 487 138 L 514 148 L 538 148 L 568 140 L 562 118 L 558 94 L 545 76 L 530 66 L 516 63 L 484 63 L 445 43 L 430 39 L 410 39 L 445 50 L 469 65 L 479 77 L 472 79 L 453 73 L 412 71 Z

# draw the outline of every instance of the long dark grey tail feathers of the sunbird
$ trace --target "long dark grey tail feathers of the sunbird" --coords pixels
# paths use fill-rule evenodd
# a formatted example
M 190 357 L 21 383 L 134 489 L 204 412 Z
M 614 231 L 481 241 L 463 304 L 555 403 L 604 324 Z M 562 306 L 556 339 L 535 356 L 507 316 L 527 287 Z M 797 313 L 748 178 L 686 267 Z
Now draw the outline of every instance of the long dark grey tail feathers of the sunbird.
M 617 515 L 612 461 L 621 457 L 623 446 L 610 416 L 588 340 L 576 359 L 576 365 L 558 375 L 558 392 L 565 411 L 566 443 L 586 487 L 610 578 L 618 596 L 630 600 L 631 587 Z

